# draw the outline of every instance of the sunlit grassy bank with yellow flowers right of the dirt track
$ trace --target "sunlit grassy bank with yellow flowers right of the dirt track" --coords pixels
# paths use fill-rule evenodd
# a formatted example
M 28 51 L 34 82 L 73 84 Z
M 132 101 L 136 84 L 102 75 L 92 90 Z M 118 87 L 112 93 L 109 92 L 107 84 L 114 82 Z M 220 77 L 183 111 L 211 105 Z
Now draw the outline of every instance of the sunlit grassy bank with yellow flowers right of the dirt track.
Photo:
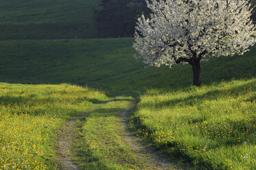
M 256 169 L 256 79 L 148 90 L 133 120 L 156 147 L 196 169 Z

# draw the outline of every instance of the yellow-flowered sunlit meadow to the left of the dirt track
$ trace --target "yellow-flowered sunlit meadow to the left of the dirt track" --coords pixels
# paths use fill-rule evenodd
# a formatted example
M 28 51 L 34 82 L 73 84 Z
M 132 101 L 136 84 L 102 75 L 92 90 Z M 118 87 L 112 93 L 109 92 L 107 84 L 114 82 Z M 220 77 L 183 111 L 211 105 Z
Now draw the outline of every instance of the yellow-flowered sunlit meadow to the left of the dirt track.
M 54 132 L 106 98 L 89 88 L 0 83 L 0 169 L 54 169 Z

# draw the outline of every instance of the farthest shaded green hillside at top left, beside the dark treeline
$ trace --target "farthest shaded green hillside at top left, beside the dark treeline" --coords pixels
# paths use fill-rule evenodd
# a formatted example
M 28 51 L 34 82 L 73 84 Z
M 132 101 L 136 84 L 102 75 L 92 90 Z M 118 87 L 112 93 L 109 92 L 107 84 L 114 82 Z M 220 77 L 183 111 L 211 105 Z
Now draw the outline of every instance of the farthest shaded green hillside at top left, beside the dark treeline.
M 99 0 L 12 0 L 0 4 L 0 39 L 94 38 Z

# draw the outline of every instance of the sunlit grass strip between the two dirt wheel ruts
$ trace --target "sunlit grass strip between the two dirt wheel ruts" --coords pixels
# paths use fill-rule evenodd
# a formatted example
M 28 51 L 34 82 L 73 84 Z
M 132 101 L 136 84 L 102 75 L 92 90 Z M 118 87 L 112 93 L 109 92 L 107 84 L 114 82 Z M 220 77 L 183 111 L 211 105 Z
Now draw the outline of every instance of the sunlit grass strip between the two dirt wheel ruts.
M 125 131 L 119 114 L 128 107 L 130 97 L 120 97 L 106 104 L 97 104 L 80 119 L 75 145 L 80 169 L 135 169 L 141 164 L 128 147 L 121 133 Z

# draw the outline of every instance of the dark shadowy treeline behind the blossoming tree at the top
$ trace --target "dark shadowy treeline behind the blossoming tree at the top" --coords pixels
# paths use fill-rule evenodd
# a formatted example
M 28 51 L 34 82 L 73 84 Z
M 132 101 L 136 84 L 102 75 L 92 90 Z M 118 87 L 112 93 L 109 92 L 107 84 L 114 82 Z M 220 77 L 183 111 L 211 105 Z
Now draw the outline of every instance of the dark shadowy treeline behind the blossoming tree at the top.
M 256 0 L 249 0 L 256 5 Z M 256 9 L 251 18 L 256 23 Z M 148 15 L 145 0 L 102 0 L 100 10 L 95 10 L 97 29 L 102 38 L 132 37 L 137 18 Z

